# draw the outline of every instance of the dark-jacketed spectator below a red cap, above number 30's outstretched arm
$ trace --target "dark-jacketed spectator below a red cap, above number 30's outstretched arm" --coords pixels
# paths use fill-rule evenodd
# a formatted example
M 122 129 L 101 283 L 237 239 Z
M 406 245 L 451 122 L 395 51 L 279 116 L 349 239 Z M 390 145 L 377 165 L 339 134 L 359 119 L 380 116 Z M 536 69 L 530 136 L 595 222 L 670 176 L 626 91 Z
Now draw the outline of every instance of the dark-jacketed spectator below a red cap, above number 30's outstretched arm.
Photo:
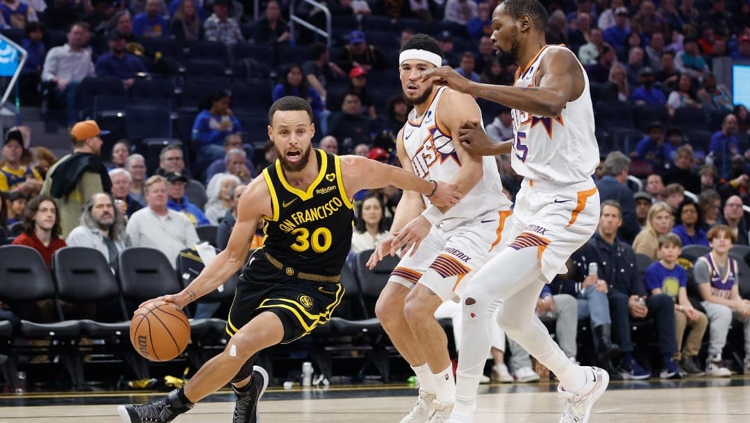
M 341 139 L 345 152 L 355 144 L 372 142 L 374 123 L 370 118 L 363 116 L 361 110 L 362 103 L 359 97 L 354 93 L 347 93 L 344 95 L 344 103 L 341 104 L 341 112 L 331 116 L 328 135 Z M 350 147 L 346 147 L 347 144 Z

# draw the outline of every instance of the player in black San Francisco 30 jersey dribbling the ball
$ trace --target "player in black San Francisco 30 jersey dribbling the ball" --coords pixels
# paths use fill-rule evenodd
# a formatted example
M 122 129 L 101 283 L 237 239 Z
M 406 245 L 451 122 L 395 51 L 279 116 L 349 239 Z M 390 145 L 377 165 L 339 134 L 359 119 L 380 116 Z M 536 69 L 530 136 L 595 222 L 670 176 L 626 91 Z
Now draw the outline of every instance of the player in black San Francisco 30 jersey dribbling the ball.
M 144 302 L 184 307 L 216 289 L 245 263 L 256 223 L 265 220 L 263 247 L 247 259 L 229 312 L 226 349 L 166 398 L 119 406 L 123 422 L 171 422 L 226 383 L 236 392 L 233 422 L 257 422 L 257 401 L 268 385 L 266 371 L 253 365 L 257 353 L 326 323 L 344 294 L 339 279 L 352 240 L 352 195 L 395 185 L 428 195 L 438 207 L 460 199 L 453 185 L 365 157 L 313 149 L 312 120 L 310 105 L 299 97 L 273 104 L 269 139 L 279 159 L 242 193 L 226 249 L 184 290 Z

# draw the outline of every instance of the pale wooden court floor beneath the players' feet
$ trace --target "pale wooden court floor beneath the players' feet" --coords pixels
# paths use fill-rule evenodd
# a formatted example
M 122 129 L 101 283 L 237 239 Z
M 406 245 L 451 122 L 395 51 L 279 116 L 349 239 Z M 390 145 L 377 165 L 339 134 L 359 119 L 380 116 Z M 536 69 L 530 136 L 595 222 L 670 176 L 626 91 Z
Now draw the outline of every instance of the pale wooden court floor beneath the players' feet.
M 553 383 L 482 386 L 475 422 L 557 422 L 562 400 Z M 269 422 L 399 422 L 416 390 L 406 386 L 344 386 L 329 389 L 269 388 L 260 404 Z M 0 423 L 120 422 L 117 404 L 157 398 L 132 392 L 0 396 Z M 613 382 L 591 422 L 750 422 L 750 377 L 695 378 L 676 382 Z M 220 392 L 175 423 L 231 422 L 233 395 Z

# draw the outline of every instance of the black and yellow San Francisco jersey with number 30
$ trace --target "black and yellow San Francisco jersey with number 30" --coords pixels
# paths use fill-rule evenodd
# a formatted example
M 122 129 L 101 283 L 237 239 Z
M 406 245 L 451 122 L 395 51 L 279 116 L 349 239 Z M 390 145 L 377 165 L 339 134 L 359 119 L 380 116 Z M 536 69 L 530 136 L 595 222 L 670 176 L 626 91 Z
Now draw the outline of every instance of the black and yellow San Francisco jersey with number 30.
M 287 276 L 333 276 L 344 267 L 352 245 L 354 210 L 344 191 L 341 161 L 323 150 L 312 153 L 317 154 L 320 172 L 307 191 L 287 182 L 280 160 L 263 170 L 273 216 L 265 218 L 263 251 L 256 252 L 248 263 L 251 269 L 246 271 L 251 277 L 265 264 L 277 270 L 282 264 Z

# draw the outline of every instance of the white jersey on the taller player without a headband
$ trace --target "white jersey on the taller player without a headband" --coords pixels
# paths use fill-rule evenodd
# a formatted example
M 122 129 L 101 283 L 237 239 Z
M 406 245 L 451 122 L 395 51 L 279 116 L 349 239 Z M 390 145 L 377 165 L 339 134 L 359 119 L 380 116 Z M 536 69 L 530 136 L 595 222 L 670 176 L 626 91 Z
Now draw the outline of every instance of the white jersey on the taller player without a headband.
M 547 52 L 565 49 L 545 46 L 528 70 L 518 70 L 516 87 L 535 86 L 535 73 Z M 580 62 L 577 61 L 580 66 Z M 513 170 L 531 180 L 578 183 L 590 180 L 599 163 L 599 147 L 594 136 L 594 112 L 589 94 L 589 78 L 583 73 L 583 92 L 565 104 L 557 118 L 535 116 L 513 109 L 515 139 L 511 153 Z

